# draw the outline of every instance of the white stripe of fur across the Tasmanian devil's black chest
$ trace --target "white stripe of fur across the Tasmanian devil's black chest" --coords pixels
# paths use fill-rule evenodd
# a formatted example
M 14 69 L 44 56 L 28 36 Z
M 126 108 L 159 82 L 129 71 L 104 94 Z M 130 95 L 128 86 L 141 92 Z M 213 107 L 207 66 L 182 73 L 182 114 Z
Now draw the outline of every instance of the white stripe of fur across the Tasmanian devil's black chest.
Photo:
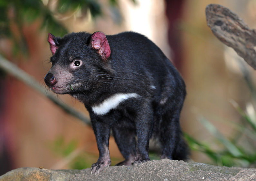
M 118 105 L 129 98 L 137 98 L 139 95 L 136 93 L 129 94 L 115 94 L 108 99 L 105 99 L 98 106 L 93 106 L 92 111 L 97 115 L 107 114 L 111 109 L 117 108 Z

